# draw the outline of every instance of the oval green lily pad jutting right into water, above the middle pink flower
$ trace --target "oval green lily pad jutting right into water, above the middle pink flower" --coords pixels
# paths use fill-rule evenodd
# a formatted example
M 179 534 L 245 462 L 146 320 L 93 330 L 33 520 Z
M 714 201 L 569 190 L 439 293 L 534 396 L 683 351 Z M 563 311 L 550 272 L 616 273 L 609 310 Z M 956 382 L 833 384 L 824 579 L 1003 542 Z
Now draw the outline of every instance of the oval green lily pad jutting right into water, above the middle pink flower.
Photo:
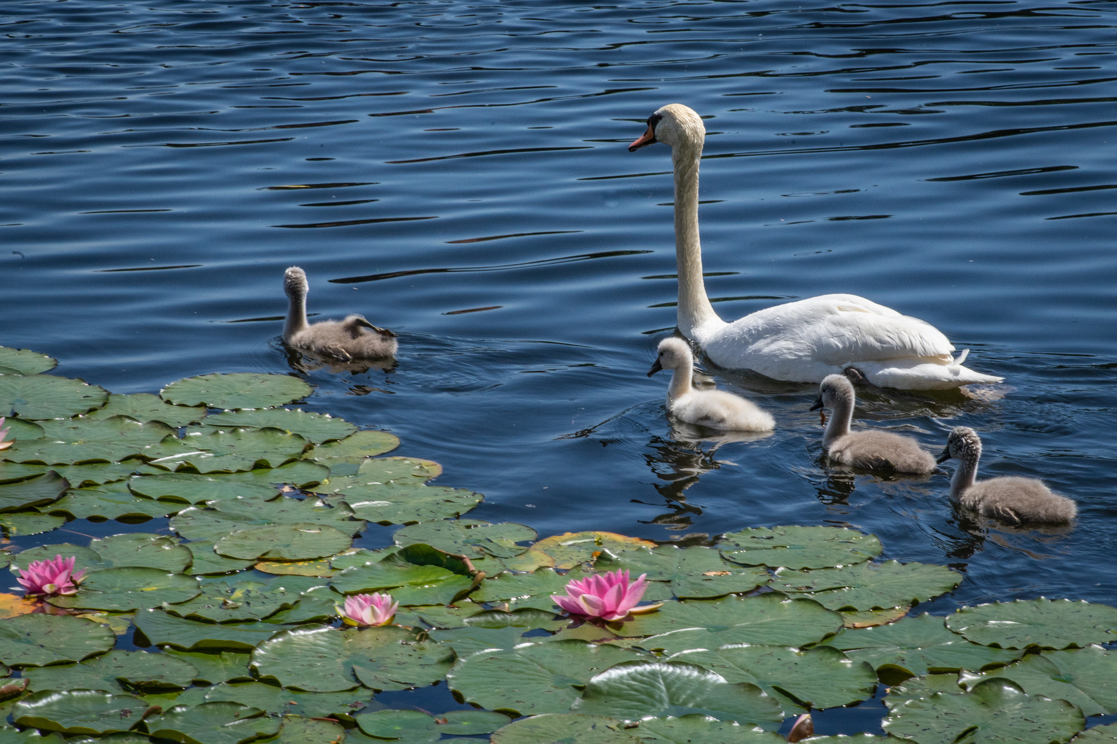
M 354 486 L 342 497 L 360 519 L 380 524 L 413 524 L 460 516 L 485 496 L 467 489 L 389 484 Z

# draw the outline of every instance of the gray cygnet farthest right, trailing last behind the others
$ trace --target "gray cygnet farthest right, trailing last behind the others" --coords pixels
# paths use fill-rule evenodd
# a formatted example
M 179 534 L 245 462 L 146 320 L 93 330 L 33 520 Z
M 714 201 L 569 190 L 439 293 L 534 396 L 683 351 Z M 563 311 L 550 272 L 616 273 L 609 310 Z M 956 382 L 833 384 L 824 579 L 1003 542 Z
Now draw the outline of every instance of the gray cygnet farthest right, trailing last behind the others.
M 938 462 L 957 457 L 958 470 L 951 480 L 951 501 L 1010 524 L 1021 522 L 1069 522 L 1078 514 L 1078 506 L 1067 496 L 1052 493 L 1043 481 L 1034 477 L 1006 475 L 976 481 L 977 461 L 981 460 L 981 437 L 966 426 L 955 427 L 946 439 L 946 448 Z

